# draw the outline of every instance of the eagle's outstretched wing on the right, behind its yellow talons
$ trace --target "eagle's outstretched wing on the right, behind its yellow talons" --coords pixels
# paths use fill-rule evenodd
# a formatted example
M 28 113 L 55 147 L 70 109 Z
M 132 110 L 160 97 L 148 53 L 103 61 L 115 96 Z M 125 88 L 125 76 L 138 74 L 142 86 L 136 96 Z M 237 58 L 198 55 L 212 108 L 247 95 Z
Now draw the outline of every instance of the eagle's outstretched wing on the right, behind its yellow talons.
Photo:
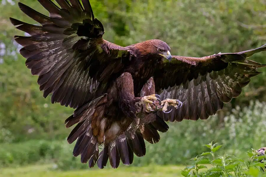
M 202 58 L 172 56 L 170 63 L 163 63 L 155 72 L 155 90 L 161 100 L 179 99 L 183 106 L 169 114 L 160 112 L 160 117 L 173 122 L 207 119 L 215 114 L 223 103 L 241 94 L 250 78 L 259 74 L 257 68 L 266 66 L 246 60 L 265 50 L 266 44 L 253 50 Z

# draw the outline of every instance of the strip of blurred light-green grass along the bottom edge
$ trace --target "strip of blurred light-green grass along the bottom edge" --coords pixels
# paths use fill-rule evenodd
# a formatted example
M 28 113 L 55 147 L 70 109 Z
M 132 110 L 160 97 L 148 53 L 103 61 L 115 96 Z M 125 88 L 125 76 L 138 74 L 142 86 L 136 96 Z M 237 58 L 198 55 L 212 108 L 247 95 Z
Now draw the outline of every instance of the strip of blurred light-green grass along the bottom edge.
M 115 177 L 181 177 L 181 170 L 184 166 L 159 166 L 150 165 L 146 167 L 128 167 L 119 166 L 118 169 L 98 169 L 92 168 L 88 170 L 70 170 L 70 171 L 54 171 L 51 170 L 53 165 L 32 165 L 26 167 L 18 168 L 2 168 L 0 169 L 0 177 L 105 177 L 105 176 L 115 176 Z

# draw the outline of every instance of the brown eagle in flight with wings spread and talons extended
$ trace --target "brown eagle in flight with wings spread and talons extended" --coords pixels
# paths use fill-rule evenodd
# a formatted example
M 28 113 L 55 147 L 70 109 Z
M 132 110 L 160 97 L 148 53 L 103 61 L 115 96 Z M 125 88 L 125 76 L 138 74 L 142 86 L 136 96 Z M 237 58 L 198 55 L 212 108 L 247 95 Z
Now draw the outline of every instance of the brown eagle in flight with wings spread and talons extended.
M 19 3 L 40 26 L 10 18 L 30 34 L 14 38 L 43 96 L 75 109 L 65 121 L 76 124 L 67 141 L 77 140 L 73 155 L 89 167 L 108 159 L 113 168 L 130 165 L 134 154 L 145 155 L 144 140 L 160 140 L 166 121 L 207 119 L 265 67 L 246 58 L 266 45 L 201 58 L 171 55 L 158 39 L 122 47 L 103 39 L 89 0 L 38 1 L 49 17 Z

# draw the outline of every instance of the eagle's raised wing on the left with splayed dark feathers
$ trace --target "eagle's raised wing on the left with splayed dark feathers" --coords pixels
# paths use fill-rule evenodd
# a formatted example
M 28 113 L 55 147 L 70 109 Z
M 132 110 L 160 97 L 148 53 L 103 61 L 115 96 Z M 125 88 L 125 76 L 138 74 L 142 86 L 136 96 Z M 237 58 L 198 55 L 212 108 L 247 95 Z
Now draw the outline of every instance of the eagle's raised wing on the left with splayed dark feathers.
M 38 75 L 40 90 L 52 103 L 76 108 L 92 99 L 99 83 L 123 67 L 129 48 L 103 40 L 101 22 L 94 18 L 90 2 L 82 0 L 38 0 L 49 17 L 19 3 L 19 7 L 41 26 L 10 18 L 17 29 L 30 37 L 15 36 L 23 46 L 26 65 Z M 70 3 L 71 4 L 70 4 Z

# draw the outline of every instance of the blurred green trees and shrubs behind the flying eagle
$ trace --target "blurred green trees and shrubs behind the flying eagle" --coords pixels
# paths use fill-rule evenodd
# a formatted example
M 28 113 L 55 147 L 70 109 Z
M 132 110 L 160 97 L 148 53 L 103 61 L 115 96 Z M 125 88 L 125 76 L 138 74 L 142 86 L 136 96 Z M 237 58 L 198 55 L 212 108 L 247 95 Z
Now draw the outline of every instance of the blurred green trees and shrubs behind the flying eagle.
M 28 23 L 17 0 L 0 1 L 0 167 L 54 163 L 62 170 L 87 168 L 72 157 L 67 144 L 70 130 L 64 120 L 73 109 L 51 104 L 39 91 L 37 76 L 25 67 L 14 35 L 25 35 L 9 17 Z M 48 13 L 36 0 L 21 0 Z M 175 55 L 200 57 L 219 52 L 238 52 L 266 43 L 265 0 L 90 0 L 103 23 L 104 38 L 126 46 L 161 39 Z M 26 34 L 27 35 L 27 34 Z M 252 56 L 266 63 L 266 53 Z M 252 78 L 236 99 L 207 120 L 169 124 L 155 145 L 147 145 L 143 158 L 133 165 L 184 164 L 206 150 L 214 140 L 223 152 L 242 155 L 250 148 L 266 146 L 266 69 Z M 122 165 L 121 165 L 122 166 Z

